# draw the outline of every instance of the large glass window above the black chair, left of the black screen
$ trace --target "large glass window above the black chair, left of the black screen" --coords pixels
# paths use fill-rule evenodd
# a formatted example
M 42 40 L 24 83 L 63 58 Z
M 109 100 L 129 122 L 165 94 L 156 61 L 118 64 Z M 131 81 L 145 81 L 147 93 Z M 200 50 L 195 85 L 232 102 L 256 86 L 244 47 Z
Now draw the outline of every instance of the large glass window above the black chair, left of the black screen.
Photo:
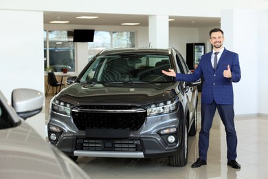
M 47 32 L 44 33 L 45 70 L 61 72 L 63 68 L 67 68 L 68 72 L 74 72 L 76 63 L 73 36 L 68 36 L 72 33 L 64 30 Z

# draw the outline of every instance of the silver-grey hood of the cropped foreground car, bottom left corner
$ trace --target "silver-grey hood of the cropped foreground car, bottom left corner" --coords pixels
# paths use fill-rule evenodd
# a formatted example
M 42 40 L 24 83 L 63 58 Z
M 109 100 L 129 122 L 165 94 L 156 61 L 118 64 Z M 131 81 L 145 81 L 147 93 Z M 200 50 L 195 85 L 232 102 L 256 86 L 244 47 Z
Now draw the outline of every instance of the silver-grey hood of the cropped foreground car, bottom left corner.
M 89 178 L 22 121 L 0 129 L 0 178 Z

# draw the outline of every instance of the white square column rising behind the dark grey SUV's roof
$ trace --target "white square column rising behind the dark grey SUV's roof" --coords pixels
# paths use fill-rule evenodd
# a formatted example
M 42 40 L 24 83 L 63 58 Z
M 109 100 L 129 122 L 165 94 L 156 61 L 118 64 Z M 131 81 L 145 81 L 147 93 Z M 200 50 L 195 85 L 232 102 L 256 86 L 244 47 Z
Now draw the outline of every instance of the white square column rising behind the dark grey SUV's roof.
M 152 48 L 168 48 L 168 16 L 149 16 L 149 44 Z M 148 44 L 148 45 L 149 45 Z

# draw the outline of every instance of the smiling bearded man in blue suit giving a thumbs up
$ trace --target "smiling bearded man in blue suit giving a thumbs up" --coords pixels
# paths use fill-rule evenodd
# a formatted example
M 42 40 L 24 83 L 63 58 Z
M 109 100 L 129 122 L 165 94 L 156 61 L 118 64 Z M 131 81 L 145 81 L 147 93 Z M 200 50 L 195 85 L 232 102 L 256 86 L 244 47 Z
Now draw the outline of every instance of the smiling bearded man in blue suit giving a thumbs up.
M 210 128 L 216 109 L 225 126 L 227 140 L 227 165 L 240 169 L 236 162 L 237 136 L 234 127 L 234 93 L 233 82 L 241 79 L 238 54 L 223 48 L 224 35 L 219 28 L 210 31 L 212 52 L 201 57 L 199 65 L 193 74 L 179 74 L 169 69 L 162 70 L 168 76 L 174 76 L 176 81 L 197 81 L 203 76 L 201 94 L 201 130 L 199 132 L 199 158 L 192 168 L 207 165 L 207 153 L 210 138 Z M 217 57 L 217 58 L 214 58 Z

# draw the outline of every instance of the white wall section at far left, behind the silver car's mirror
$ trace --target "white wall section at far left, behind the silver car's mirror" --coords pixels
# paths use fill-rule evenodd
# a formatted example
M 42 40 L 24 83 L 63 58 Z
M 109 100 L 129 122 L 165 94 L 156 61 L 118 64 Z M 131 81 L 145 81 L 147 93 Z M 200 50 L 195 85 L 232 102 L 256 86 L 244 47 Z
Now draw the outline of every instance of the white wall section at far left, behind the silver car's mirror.
M 0 17 L 0 90 L 9 101 L 15 88 L 43 92 L 43 12 L 0 10 Z

